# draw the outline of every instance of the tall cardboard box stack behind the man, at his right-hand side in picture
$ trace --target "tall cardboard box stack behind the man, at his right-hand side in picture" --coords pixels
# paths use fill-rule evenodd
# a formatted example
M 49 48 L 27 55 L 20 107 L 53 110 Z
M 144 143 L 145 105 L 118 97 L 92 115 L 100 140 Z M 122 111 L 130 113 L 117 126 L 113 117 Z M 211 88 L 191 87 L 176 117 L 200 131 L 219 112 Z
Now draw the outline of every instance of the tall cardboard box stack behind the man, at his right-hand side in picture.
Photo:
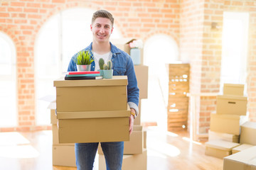
M 133 39 L 132 39 L 133 40 Z M 119 49 L 124 50 L 129 54 L 129 42 L 131 39 L 118 39 L 113 40 L 114 45 L 119 47 Z M 124 142 L 124 157 L 122 162 L 122 170 L 129 169 L 146 169 L 146 131 L 143 130 L 141 124 L 141 106 L 142 99 L 148 97 L 148 72 L 149 67 L 142 65 L 143 63 L 143 50 L 141 50 L 141 64 L 134 65 L 134 71 L 137 77 L 138 87 L 139 87 L 139 115 L 134 120 L 134 130 L 132 135 L 130 135 L 129 141 Z M 99 169 L 106 169 L 105 157 L 102 149 L 99 145 Z

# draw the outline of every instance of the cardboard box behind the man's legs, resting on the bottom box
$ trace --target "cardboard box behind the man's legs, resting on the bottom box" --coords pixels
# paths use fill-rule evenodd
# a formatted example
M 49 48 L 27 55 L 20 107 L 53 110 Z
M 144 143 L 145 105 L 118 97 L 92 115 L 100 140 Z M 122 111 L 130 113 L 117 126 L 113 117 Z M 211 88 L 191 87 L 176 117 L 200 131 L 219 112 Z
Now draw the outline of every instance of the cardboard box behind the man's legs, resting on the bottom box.
M 143 145 L 144 142 L 142 126 L 134 125 L 133 132 L 129 136 L 129 141 L 124 142 L 124 154 L 142 154 Z M 98 153 L 103 154 L 100 145 Z

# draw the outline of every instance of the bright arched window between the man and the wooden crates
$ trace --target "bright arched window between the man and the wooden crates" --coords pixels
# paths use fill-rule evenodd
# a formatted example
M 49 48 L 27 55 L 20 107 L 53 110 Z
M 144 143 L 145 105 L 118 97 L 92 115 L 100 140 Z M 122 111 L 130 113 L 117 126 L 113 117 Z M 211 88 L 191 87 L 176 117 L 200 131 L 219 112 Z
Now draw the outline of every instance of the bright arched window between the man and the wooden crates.
M 144 43 L 144 64 L 149 66 L 148 99 L 142 100 L 142 122 L 166 125 L 166 106 L 169 94 L 169 72 L 166 64 L 178 60 L 178 45 L 169 35 L 153 35 Z M 148 107 L 149 106 L 149 107 Z M 157 106 L 157 107 L 150 107 Z M 150 115 L 150 113 L 152 113 Z M 155 115 L 155 113 L 164 113 Z M 156 120 L 157 118 L 157 120 Z

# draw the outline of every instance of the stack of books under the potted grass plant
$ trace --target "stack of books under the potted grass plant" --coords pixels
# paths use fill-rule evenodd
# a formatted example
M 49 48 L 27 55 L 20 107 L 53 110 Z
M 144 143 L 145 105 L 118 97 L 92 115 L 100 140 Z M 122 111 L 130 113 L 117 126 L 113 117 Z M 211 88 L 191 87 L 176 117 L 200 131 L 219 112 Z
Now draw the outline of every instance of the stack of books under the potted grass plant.
M 82 72 L 63 72 L 65 80 L 77 79 L 102 79 L 100 72 L 97 71 L 82 71 Z

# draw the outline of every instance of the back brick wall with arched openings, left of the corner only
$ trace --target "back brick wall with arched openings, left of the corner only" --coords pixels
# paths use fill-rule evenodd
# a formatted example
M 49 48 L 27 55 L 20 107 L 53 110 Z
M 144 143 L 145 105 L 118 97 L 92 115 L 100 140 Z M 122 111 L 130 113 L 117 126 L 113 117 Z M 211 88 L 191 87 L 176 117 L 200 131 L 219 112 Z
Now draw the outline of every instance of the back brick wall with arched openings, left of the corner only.
M 36 126 L 34 45 L 38 30 L 50 16 L 68 8 L 105 8 L 114 15 L 115 24 L 124 38 L 146 40 L 151 35 L 164 33 L 178 42 L 178 0 L 3 0 L 0 1 L 0 31 L 16 45 L 18 127 L 0 131 L 41 130 Z

